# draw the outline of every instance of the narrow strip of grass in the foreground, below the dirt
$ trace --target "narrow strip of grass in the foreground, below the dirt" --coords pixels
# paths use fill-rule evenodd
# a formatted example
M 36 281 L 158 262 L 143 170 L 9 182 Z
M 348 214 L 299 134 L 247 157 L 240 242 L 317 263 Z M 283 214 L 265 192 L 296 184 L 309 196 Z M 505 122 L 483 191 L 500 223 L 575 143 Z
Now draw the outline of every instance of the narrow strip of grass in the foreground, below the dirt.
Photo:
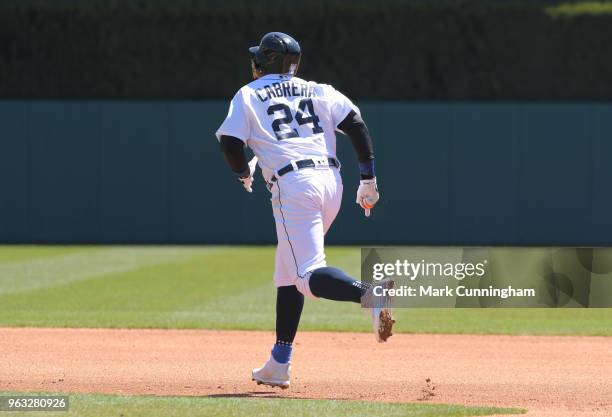
M 444 404 L 392 404 L 363 401 L 278 398 L 202 398 L 122 395 L 70 395 L 69 412 L 46 417 L 462 417 L 521 414 L 514 408 Z M 3 417 L 37 417 L 41 412 L 2 412 Z

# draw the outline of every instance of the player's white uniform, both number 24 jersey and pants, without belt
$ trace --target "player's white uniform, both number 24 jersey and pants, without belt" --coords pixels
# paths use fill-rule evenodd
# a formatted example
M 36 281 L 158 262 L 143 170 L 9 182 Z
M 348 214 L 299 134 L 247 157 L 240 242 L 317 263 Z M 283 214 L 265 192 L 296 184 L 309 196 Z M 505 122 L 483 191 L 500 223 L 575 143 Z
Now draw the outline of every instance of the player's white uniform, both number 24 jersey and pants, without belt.
M 289 75 L 265 75 L 242 87 L 217 130 L 244 141 L 266 181 L 292 161 L 336 157 L 336 130 L 359 109 L 332 86 Z M 310 272 L 327 265 L 324 236 L 342 201 L 342 178 L 332 167 L 301 169 L 272 184 L 278 247 L 274 283 L 308 296 Z

